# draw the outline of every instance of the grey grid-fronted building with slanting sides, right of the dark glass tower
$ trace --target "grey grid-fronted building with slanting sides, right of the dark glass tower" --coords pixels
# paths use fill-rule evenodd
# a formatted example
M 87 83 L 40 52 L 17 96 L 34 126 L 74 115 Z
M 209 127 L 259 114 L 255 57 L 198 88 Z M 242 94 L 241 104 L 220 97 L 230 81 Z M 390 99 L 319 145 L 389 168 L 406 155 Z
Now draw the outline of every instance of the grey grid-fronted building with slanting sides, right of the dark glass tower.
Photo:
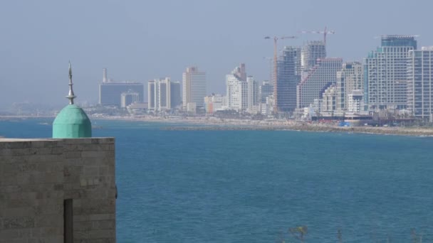
M 341 58 L 318 60 L 318 64 L 296 87 L 296 107 L 308 107 L 314 99 L 320 99 L 325 89 L 337 82 L 337 72 L 341 70 L 341 65 Z

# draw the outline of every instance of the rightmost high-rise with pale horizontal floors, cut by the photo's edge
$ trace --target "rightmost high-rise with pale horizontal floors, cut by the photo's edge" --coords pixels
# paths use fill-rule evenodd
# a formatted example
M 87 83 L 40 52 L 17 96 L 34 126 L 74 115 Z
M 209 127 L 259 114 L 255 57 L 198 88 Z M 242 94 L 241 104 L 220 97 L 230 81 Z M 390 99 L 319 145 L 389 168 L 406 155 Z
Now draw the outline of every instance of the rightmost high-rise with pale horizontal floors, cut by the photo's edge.
M 407 110 L 422 119 L 433 119 L 433 47 L 409 50 Z

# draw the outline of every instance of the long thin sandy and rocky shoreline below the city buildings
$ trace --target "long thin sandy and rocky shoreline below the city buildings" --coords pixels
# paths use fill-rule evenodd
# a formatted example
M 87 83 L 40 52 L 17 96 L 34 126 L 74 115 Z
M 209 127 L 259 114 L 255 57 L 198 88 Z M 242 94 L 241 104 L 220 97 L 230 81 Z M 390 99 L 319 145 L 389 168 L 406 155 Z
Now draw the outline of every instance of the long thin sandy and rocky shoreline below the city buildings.
M 53 118 L 53 117 L 29 117 L 29 116 L 1 116 L 0 120 L 6 119 L 30 119 L 30 118 Z M 150 121 L 172 123 L 165 130 L 259 130 L 259 131 L 320 131 L 320 132 L 343 132 L 357 134 L 382 134 L 403 136 L 433 136 L 433 127 L 384 127 L 384 126 L 337 126 L 335 124 L 318 124 L 307 121 L 284 121 L 284 120 L 251 120 L 251 119 L 219 119 L 216 117 L 90 117 L 98 120 L 122 120 L 122 121 Z M 189 125 L 191 124 L 191 125 Z M 194 125 L 194 126 L 192 126 Z M 202 125 L 202 126 L 197 126 Z

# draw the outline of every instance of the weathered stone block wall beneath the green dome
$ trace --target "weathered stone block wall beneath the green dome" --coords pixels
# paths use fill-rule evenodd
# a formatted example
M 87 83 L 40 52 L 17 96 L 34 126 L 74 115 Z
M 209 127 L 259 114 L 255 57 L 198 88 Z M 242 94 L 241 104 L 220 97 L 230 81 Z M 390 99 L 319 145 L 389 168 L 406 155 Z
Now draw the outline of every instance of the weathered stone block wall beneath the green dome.
M 115 242 L 113 138 L 0 139 L 0 243 Z

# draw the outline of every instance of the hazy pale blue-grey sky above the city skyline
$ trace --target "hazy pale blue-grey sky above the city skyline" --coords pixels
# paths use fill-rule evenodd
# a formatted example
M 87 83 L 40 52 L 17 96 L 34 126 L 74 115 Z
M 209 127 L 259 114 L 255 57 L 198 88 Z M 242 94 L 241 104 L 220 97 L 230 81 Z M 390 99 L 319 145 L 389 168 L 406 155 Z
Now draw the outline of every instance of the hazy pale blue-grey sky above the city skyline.
M 68 60 L 77 102 L 98 100 L 98 81 L 182 80 L 189 65 L 207 72 L 208 92 L 224 93 L 225 75 L 246 63 L 256 80 L 269 77 L 264 36 L 300 36 L 302 45 L 335 31 L 328 57 L 362 60 L 381 34 L 417 34 L 433 45 L 432 1 L 0 1 L 0 108 L 12 102 L 66 104 Z

